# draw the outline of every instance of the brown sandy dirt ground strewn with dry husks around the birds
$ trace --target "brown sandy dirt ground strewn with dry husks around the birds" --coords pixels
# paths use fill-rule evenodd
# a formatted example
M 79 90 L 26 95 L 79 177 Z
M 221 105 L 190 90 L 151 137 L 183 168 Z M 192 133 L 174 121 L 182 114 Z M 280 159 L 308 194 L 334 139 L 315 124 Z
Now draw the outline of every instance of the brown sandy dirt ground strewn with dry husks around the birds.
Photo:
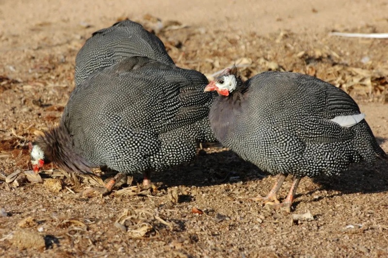
M 388 257 L 385 161 L 304 178 L 292 214 L 310 212 L 311 221 L 252 201 L 275 178 L 215 147 L 153 175 L 152 193 L 136 192 L 137 176 L 127 195 L 81 196 L 92 181 L 74 185 L 51 166 L 44 184 L 4 179 L 28 168 L 36 131 L 58 124 L 85 40 L 125 18 L 209 79 L 235 63 L 246 78 L 286 70 L 329 81 L 356 99 L 388 151 L 388 39 L 328 34 L 388 32 L 387 8 L 387 0 L 0 0 L 0 256 Z

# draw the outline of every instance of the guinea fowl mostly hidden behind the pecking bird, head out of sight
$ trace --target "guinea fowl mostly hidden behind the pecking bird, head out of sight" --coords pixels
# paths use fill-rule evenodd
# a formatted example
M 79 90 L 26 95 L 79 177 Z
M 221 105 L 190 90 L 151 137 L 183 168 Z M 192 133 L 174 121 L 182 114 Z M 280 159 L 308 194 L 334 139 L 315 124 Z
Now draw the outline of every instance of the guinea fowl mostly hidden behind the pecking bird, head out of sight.
M 144 56 L 174 64 L 162 41 L 142 25 L 124 20 L 94 32 L 76 57 L 75 82 L 81 84 L 97 70 L 117 64 L 127 57 Z

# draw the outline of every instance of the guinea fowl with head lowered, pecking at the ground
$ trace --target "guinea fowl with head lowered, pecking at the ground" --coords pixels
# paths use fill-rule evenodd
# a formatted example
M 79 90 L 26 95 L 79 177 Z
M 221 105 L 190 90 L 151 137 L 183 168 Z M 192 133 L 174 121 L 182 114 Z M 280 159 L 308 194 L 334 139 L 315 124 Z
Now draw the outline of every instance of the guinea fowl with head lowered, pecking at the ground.
M 60 126 L 32 145 L 34 171 L 50 161 L 70 173 L 107 166 L 119 172 L 111 191 L 124 174 L 192 161 L 211 134 L 207 83 L 197 71 L 146 57 L 94 73 L 72 92 Z

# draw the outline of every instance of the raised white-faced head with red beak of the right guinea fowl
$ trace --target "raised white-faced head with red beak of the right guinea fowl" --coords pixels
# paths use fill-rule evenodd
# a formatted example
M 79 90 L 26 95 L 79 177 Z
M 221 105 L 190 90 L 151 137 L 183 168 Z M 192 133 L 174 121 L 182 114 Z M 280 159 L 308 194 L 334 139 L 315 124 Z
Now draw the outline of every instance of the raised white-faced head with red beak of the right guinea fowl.
M 219 95 L 229 96 L 229 93 L 236 91 L 241 83 L 241 77 L 233 65 L 232 68 L 226 68 L 214 81 L 210 81 L 204 91 L 217 91 Z

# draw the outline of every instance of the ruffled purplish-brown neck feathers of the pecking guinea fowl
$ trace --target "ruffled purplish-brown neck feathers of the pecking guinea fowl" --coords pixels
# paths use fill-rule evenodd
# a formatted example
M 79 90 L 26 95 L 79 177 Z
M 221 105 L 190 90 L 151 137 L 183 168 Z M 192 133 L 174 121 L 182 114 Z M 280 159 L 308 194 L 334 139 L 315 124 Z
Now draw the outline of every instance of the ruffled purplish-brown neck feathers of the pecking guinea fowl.
M 35 144 L 41 146 L 49 161 L 68 173 L 93 174 L 87 162 L 72 148 L 71 136 L 63 127 L 56 127 L 39 136 Z

